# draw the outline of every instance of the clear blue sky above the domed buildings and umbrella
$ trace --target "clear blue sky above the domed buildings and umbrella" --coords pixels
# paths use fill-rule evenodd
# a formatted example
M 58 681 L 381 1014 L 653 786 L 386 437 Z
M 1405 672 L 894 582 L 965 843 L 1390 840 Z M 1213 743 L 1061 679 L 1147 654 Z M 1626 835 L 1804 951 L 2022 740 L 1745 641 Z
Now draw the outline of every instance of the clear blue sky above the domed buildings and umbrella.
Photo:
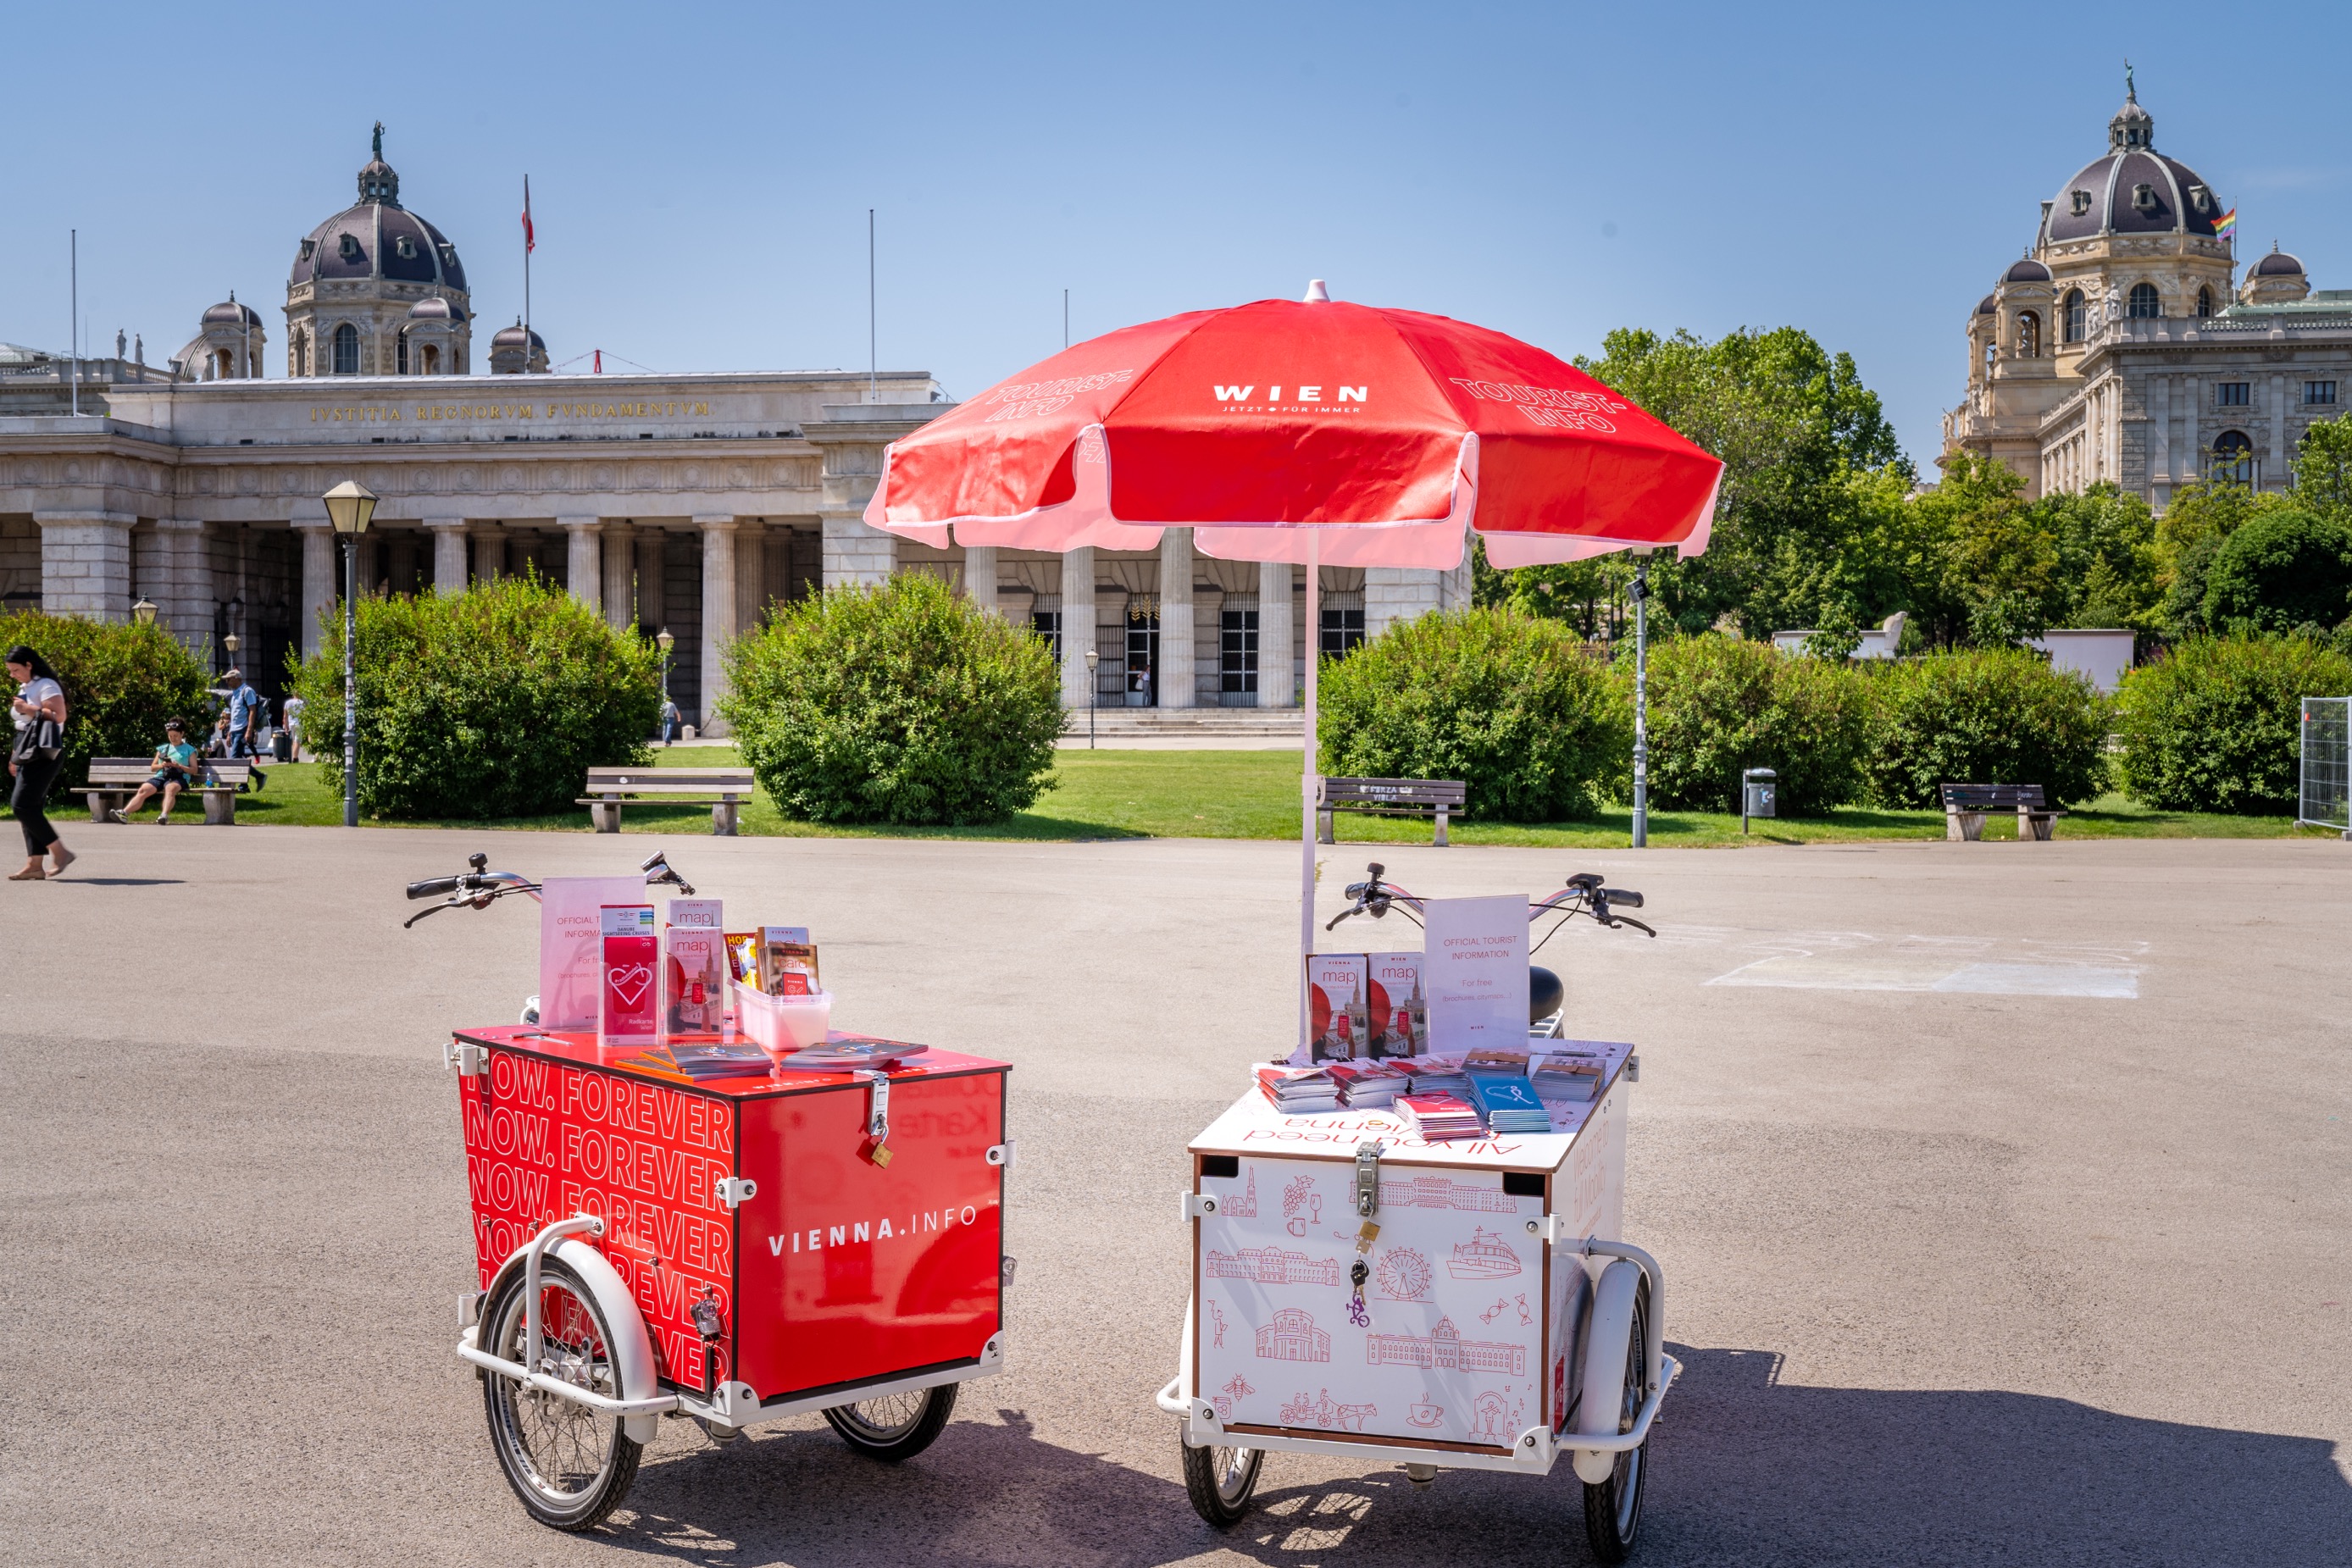
M 2103 150 L 2124 56 L 2239 254 L 2352 287 L 2352 9 L 42 7 L 9 16 L 0 339 L 174 353 L 228 289 L 270 322 L 386 122 L 475 310 L 553 357 L 866 364 L 971 395 L 1073 331 L 1334 294 L 1562 355 L 1611 327 L 1797 324 L 1926 465 L 1962 329 Z M 42 113 L 42 103 L 54 113 Z M 87 350 L 87 348 L 85 348 Z M 485 355 L 477 355 L 485 357 Z M 612 360 L 607 367 L 619 369 Z

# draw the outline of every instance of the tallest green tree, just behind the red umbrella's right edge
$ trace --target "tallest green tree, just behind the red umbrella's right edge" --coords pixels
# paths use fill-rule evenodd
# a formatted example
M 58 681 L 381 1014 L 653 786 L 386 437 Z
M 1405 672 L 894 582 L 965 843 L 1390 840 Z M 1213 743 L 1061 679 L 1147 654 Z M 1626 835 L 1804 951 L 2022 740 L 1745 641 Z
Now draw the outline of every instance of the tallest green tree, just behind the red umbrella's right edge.
M 1621 329 L 1578 367 L 1724 458 L 1708 550 L 1651 574 L 1658 609 L 1682 630 L 1729 616 L 1764 637 L 1818 625 L 1832 604 L 1863 621 L 1903 609 L 1886 602 L 1856 480 L 1893 470 L 1907 482 L 1910 465 L 1851 355 L 1797 327 L 1712 343 Z M 1562 599 L 1557 588 L 1550 597 Z

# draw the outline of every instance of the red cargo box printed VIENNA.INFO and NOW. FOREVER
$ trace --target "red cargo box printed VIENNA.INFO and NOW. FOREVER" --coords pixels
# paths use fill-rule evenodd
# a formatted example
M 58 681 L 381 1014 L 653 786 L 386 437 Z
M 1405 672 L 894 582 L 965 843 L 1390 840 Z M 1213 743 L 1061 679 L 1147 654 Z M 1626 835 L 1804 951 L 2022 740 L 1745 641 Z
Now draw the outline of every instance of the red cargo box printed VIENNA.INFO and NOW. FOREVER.
M 600 1060 L 593 1034 L 456 1039 L 485 1056 L 459 1077 L 480 1286 L 548 1222 L 593 1213 L 666 1387 L 774 1403 L 997 1361 L 1004 1063 L 891 1067 L 877 1166 L 873 1091 L 849 1072 L 691 1084 Z M 722 1324 L 708 1354 L 701 1300 Z

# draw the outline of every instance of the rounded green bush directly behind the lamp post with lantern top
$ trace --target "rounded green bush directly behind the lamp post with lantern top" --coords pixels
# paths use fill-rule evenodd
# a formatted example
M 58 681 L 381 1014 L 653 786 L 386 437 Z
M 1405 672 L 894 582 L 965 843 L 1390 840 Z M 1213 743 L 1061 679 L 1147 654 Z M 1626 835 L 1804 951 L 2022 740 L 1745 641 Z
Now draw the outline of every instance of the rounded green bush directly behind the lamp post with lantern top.
M 661 654 L 550 583 L 358 604 L 360 811 L 390 820 L 576 811 L 593 766 L 644 766 Z M 294 668 L 301 741 L 343 790 L 343 616 Z

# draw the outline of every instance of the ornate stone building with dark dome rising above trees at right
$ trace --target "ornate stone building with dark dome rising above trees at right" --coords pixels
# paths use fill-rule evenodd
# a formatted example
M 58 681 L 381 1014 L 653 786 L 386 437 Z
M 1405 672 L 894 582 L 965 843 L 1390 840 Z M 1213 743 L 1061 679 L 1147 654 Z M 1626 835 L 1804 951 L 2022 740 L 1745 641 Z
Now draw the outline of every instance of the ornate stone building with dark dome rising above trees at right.
M 2027 496 L 2110 480 L 2161 510 L 2197 477 L 2286 489 L 2303 433 L 2352 390 L 2352 289 L 2312 292 L 2279 249 L 2237 280 L 2232 214 L 2126 92 L 2107 150 L 1969 315 L 1945 451 L 2002 458 Z

